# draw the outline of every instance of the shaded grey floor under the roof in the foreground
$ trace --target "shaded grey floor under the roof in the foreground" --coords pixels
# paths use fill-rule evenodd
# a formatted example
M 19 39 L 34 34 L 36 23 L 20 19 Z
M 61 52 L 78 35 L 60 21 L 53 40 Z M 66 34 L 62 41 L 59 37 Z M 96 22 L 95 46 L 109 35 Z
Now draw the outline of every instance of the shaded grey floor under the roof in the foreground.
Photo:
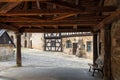
M 102 80 L 87 69 L 65 67 L 21 67 L 0 73 L 0 80 Z

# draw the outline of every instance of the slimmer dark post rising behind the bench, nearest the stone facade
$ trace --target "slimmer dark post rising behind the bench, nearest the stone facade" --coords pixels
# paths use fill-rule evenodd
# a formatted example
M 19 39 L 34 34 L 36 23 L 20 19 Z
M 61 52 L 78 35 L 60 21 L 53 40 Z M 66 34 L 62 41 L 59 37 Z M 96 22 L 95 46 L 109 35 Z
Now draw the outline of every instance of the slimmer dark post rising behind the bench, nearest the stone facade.
M 97 32 L 93 32 L 93 63 L 95 63 L 97 58 L 98 58 Z

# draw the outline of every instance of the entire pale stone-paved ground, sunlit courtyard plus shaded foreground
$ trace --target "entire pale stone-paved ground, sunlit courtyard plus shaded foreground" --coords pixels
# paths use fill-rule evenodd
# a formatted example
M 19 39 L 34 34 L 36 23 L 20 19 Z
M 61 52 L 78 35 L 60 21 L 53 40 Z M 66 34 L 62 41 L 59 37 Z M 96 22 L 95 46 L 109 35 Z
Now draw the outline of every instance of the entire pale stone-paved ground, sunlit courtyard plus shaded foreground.
M 101 74 L 92 77 L 88 72 L 92 60 L 62 52 L 22 49 L 23 67 L 16 67 L 15 61 L 0 62 L 0 80 L 102 80 Z

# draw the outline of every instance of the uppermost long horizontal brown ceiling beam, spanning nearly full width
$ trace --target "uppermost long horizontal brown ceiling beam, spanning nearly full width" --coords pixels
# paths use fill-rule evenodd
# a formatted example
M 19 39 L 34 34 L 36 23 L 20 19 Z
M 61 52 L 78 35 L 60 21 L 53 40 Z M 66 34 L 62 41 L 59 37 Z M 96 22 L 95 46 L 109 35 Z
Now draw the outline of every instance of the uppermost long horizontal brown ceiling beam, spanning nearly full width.
M 31 15 L 53 15 L 53 14 L 78 14 L 78 13 L 93 13 L 93 12 L 111 12 L 115 11 L 113 6 L 106 7 L 92 7 L 87 8 L 85 11 L 71 10 L 71 9 L 44 9 L 44 10 L 15 10 L 8 13 L 0 13 L 0 16 L 31 16 Z

